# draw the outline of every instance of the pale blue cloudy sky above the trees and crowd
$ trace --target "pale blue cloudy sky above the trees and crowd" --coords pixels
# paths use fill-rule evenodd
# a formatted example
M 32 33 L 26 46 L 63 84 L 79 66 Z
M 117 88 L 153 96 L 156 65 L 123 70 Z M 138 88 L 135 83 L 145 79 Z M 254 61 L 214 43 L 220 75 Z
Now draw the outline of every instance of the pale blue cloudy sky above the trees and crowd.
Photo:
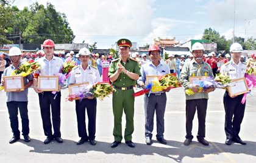
M 20 9 L 35 2 L 15 1 Z M 82 2 L 82 3 L 81 3 Z M 44 6 L 45 0 L 40 1 Z M 214 28 L 227 39 L 233 36 L 234 0 L 94 0 L 51 1 L 65 13 L 76 38 L 74 42 L 111 48 L 118 39 L 127 38 L 139 46 L 154 38 L 176 38 L 186 42 L 200 39 L 205 28 Z M 244 24 L 256 18 L 256 1 L 236 0 L 235 35 L 244 37 Z

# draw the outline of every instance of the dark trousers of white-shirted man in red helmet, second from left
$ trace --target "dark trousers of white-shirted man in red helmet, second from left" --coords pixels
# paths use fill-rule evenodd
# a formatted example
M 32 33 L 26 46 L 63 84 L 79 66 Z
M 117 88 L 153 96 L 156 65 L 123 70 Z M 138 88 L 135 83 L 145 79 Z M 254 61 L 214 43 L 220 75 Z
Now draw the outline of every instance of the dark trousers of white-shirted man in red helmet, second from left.
M 62 96 L 60 91 L 56 97 L 54 94 L 52 94 L 51 91 L 44 91 L 42 93 L 38 93 L 38 96 L 39 96 L 39 104 L 40 104 L 40 110 L 41 110 L 41 118 L 43 120 L 44 135 L 49 138 L 60 137 L 61 136 L 60 134 L 60 97 Z M 52 112 L 52 123 L 51 123 L 51 112 Z M 54 128 L 53 135 L 52 135 L 52 125 Z

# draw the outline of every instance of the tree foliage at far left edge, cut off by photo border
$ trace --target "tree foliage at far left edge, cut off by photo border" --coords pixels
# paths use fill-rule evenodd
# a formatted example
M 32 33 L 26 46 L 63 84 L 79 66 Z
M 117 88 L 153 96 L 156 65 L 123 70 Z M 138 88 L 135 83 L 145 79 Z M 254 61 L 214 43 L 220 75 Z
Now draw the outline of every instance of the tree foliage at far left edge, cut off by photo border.
M 10 19 L 13 16 L 13 12 L 10 8 L 12 1 L 1 0 L 0 2 L 0 46 L 2 47 L 4 44 L 12 43 L 12 41 L 7 39 L 6 34 L 9 32 L 7 28 L 12 26 Z

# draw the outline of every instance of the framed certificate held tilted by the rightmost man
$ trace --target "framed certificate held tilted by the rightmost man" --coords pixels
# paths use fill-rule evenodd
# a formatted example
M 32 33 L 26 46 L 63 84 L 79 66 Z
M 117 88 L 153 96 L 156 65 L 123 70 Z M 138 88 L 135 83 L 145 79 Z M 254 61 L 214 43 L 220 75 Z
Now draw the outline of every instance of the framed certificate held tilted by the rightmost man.
M 245 78 L 233 80 L 232 85 L 234 85 L 234 86 L 227 87 L 227 90 L 229 90 L 230 96 L 242 95 L 249 91 L 249 88 L 248 88 Z

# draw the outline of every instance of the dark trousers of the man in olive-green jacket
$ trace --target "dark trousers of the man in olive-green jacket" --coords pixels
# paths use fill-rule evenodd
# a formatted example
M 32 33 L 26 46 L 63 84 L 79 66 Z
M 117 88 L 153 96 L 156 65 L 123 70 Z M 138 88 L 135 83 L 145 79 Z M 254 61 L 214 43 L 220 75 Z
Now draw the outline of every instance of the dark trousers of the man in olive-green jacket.
M 205 137 L 205 117 L 207 110 L 207 101 L 208 99 L 186 100 L 186 138 L 193 139 L 192 125 L 196 110 L 198 118 L 198 132 L 196 137 L 199 140 Z

